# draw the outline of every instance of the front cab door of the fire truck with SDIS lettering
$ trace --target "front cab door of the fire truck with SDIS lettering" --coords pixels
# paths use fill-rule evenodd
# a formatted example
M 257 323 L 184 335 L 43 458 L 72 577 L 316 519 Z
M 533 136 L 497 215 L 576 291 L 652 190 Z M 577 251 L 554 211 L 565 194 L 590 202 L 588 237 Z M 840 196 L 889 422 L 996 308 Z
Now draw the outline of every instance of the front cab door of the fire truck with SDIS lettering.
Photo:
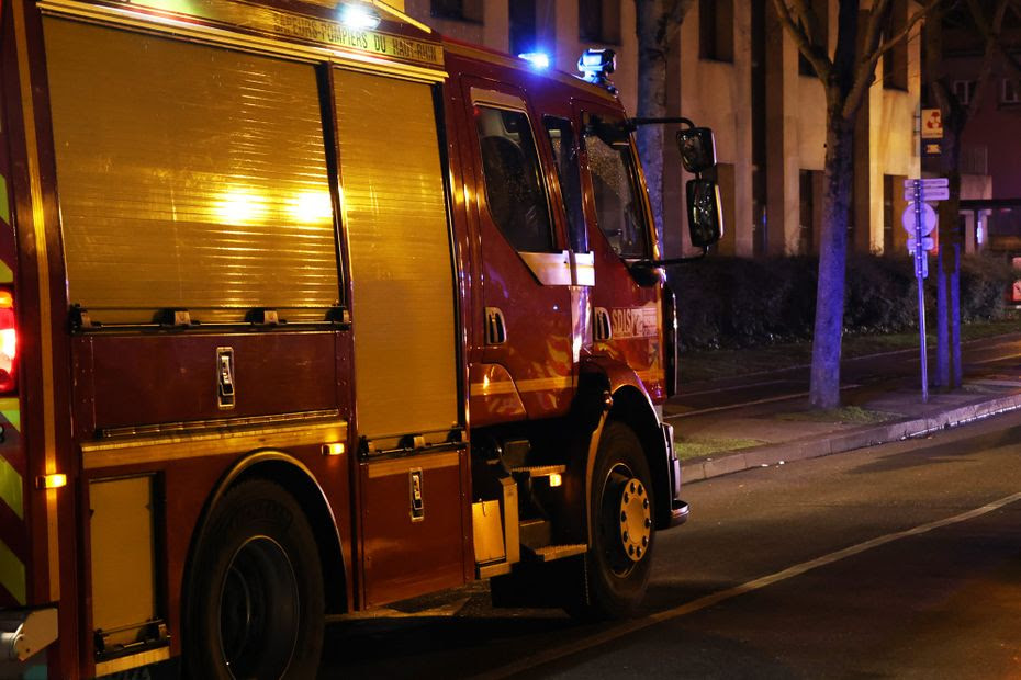
M 666 397 L 662 347 L 662 283 L 631 264 L 657 257 L 655 230 L 638 154 L 629 135 L 614 134 L 619 111 L 577 102 L 584 212 L 596 285 L 591 293 L 593 350 L 626 363 L 659 403 Z M 651 272 L 647 272 L 651 274 Z

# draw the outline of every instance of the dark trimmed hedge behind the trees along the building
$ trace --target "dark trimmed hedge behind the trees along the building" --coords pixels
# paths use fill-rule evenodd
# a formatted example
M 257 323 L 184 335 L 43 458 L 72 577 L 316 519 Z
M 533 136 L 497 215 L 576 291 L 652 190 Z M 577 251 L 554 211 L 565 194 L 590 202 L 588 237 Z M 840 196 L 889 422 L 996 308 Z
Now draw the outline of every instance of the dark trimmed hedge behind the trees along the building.
M 811 338 L 818 258 L 707 258 L 670 272 L 677 295 L 682 350 L 740 348 Z M 925 284 L 935 308 L 935 267 Z M 962 321 L 1001 319 L 1013 280 L 992 256 L 961 263 Z M 848 257 L 845 333 L 886 333 L 918 327 L 918 290 L 907 257 Z

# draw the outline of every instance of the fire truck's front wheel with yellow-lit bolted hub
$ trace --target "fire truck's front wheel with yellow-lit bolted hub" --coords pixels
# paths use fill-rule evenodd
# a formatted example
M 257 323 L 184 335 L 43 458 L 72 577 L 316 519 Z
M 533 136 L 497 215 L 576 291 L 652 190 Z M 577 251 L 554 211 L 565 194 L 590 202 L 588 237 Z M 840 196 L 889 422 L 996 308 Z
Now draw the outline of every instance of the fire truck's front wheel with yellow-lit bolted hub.
M 622 619 L 646 596 L 655 544 L 652 476 L 638 435 L 609 421 L 592 475 L 592 547 L 585 555 L 587 597 L 573 615 Z

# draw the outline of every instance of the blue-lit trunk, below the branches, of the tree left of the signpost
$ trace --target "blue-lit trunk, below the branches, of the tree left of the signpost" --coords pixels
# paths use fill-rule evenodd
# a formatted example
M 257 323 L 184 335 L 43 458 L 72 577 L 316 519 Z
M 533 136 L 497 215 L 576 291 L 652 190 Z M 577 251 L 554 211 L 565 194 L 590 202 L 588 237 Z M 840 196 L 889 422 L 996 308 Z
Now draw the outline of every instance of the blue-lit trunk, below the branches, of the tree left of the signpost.
M 844 317 L 848 218 L 853 180 L 854 123 L 835 106 L 827 113 L 826 166 L 822 178 L 822 233 L 819 282 L 811 347 L 809 401 L 816 408 L 840 406 L 840 345 Z

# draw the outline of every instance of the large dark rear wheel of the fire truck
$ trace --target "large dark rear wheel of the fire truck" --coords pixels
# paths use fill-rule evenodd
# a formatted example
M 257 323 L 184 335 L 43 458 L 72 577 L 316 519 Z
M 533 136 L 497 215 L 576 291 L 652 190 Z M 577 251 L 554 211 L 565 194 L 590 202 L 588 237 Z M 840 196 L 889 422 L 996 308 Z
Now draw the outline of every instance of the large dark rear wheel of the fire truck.
M 186 677 L 314 678 L 323 574 L 298 502 L 272 481 L 243 481 L 207 526 L 186 593 Z

